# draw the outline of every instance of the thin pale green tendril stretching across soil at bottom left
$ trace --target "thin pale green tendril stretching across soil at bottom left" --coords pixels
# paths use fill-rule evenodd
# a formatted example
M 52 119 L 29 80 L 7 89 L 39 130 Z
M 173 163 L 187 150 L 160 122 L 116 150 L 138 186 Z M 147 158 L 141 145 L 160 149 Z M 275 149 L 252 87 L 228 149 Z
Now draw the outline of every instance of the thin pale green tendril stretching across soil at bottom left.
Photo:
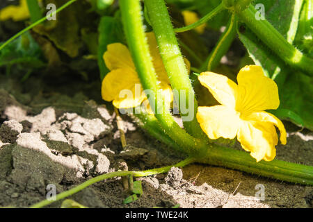
M 58 200 L 66 198 L 67 196 L 71 196 L 73 194 L 76 194 L 77 192 L 81 191 L 82 189 L 85 189 L 86 187 L 89 187 L 90 185 L 93 185 L 96 182 L 106 180 L 109 178 L 120 177 L 120 176 L 134 176 L 134 177 L 152 176 L 154 174 L 166 173 L 172 167 L 184 167 L 187 164 L 191 164 L 192 162 L 194 162 L 193 158 L 187 158 L 186 160 L 183 160 L 183 161 L 181 161 L 175 165 L 172 165 L 172 166 L 161 167 L 161 168 L 151 169 L 151 170 L 147 170 L 147 171 L 116 171 L 113 173 L 106 173 L 106 174 L 97 176 L 95 178 L 92 178 L 90 180 L 87 180 L 86 182 L 83 182 L 81 185 L 78 185 L 77 187 L 74 187 L 72 189 L 69 189 L 67 191 L 62 192 L 61 194 L 56 195 L 53 200 L 42 200 L 39 203 L 31 205 L 30 208 L 45 207 L 51 203 L 54 203 Z

